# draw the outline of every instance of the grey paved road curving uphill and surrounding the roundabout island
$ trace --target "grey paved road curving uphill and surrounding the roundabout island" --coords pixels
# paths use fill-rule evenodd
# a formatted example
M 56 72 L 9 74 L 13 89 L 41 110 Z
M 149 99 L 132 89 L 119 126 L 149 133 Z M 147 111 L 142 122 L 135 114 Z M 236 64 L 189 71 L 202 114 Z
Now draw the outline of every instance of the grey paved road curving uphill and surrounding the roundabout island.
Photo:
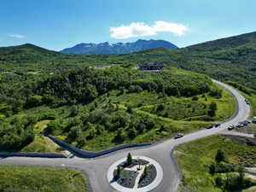
M 108 167 L 115 161 L 123 158 L 127 155 L 127 152 L 131 152 L 134 155 L 148 156 L 160 163 L 164 170 L 164 178 L 160 185 L 152 190 L 152 192 L 174 192 L 177 191 L 179 183 L 179 172 L 176 161 L 172 159 L 172 150 L 179 144 L 189 143 L 195 139 L 211 136 L 217 134 L 220 131 L 224 131 L 227 125 L 236 124 L 242 120 L 245 120 L 250 115 L 250 108 L 245 102 L 245 98 L 241 96 L 236 90 L 231 88 L 227 84 L 220 83 L 213 80 L 215 83 L 224 86 L 227 90 L 236 97 L 237 110 L 236 115 L 224 122 L 221 128 L 212 128 L 210 130 L 195 131 L 187 134 L 177 140 L 169 139 L 163 143 L 155 144 L 146 148 L 129 148 L 124 149 L 113 154 L 104 155 L 96 159 L 79 159 L 77 157 L 73 159 L 44 159 L 44 158 L 21 158 L 10 157 L 0 160 L 2 165 L 28 165 L 28 166 L 65 166 L 69 168 L 77 169 L 86 174 L 90 179 L 90 185 L 94 192 L 113 192 L 114 189 L 108 184 L 107 172 Z

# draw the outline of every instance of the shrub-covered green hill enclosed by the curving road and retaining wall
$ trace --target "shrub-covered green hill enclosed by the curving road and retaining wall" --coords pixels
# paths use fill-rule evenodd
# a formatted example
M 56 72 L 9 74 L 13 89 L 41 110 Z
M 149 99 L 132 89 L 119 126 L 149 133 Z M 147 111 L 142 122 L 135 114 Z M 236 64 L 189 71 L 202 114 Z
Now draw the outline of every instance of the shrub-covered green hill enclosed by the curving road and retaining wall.
M 154 142 L 229 117 L 232 101 L 207 76 L 176 67 L 70 69 L 0 84 L 0 148 L 42 151 L 42 133 L 92 150 Z M 38 128 L 42 120 L 45 130 Z

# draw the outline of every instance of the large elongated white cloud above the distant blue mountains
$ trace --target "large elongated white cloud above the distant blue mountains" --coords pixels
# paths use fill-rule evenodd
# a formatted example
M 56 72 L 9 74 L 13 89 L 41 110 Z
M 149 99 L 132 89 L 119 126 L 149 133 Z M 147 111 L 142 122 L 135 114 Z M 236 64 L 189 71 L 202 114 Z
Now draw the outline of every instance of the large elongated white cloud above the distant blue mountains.
M 148 26 L 143 22 L 132 22 L 129 26 L 110 27 L 112 38 L 137 38 L 144 36 L 153 36 L 159 32 L 170 32 L 177 36 L 182 36 L 188 31 L 188 26 L 182 24 L 170 23 L 166 21 L 154 21 L 154 25 Z

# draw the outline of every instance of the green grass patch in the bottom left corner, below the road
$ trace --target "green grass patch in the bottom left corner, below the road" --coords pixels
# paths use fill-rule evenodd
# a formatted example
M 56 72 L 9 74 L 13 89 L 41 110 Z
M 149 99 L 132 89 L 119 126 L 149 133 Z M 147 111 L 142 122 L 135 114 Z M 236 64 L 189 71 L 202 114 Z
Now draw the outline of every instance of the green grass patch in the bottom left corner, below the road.
M 0 166 L 0 191 L 88 192 L 82 173 L 41 166 Z

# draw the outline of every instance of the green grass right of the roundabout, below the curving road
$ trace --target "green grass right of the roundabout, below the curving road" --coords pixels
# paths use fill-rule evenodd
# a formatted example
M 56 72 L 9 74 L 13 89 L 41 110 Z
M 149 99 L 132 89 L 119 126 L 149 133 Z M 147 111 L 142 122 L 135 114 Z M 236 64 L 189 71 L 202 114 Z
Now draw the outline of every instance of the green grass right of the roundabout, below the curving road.
M 209 173 L 209 165 L 214 160 L 218 149 L 224 150 L 230 163 L 256 166 L 253 154 L 256 148 L 243 143 L 225 139 L 222 136 L 212 136 L 183 144 L 175 150 L 175 156 L 183 172 L 183 191 L 190 189 L 196 192 L 220 192 L 214 186 L 214 176 Z

